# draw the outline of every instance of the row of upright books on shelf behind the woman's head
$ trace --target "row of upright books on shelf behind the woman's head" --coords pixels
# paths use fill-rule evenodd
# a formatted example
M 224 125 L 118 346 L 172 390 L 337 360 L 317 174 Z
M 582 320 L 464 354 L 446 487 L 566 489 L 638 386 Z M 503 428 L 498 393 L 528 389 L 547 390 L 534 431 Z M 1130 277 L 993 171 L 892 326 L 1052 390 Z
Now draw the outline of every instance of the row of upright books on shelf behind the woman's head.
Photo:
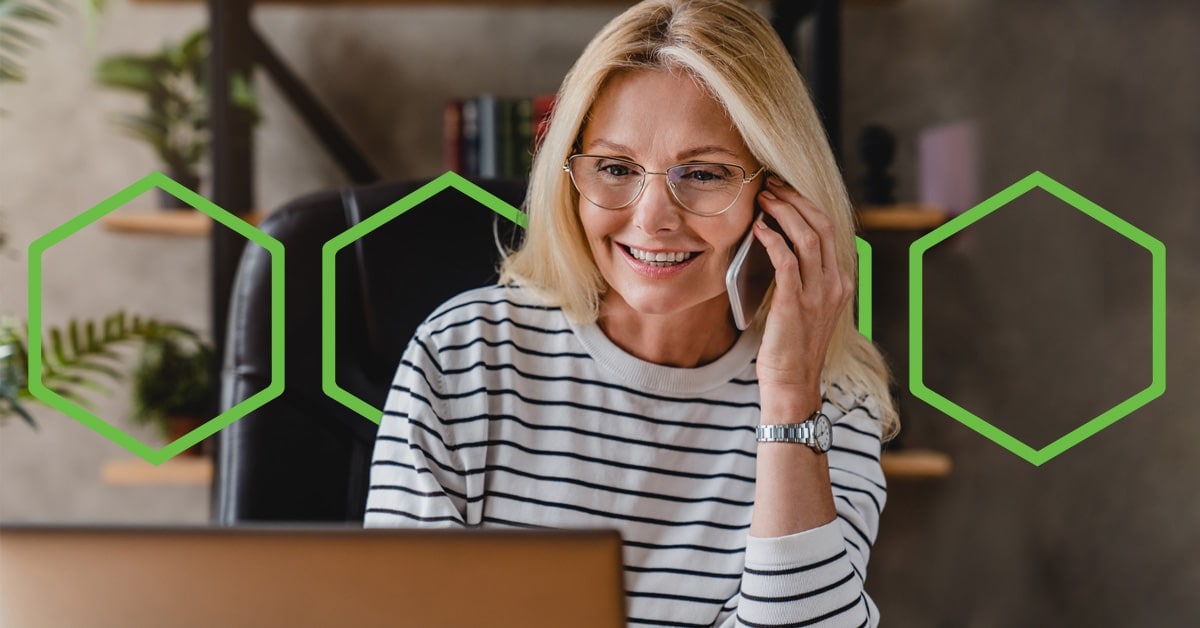
M 484 94 L 446 103 L 445 167 L 463 177 L 528 178 L 553 107 L 552 94 L 532 98 Z

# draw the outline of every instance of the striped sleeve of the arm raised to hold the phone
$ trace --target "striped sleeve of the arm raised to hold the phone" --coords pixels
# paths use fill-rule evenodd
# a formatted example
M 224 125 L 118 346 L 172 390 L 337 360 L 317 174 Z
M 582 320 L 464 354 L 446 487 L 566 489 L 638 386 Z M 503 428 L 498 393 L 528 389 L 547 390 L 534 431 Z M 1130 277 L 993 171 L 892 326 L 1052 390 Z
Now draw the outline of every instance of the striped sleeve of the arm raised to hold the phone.
M 880 448 L 871 407 L 853 405 L 834 423 L 828 455 L 838 518 L 787 537 L 749 537 L 742 587 L 722 609 L 722 628 L 878 624 L 864 581 L 886 500 Z

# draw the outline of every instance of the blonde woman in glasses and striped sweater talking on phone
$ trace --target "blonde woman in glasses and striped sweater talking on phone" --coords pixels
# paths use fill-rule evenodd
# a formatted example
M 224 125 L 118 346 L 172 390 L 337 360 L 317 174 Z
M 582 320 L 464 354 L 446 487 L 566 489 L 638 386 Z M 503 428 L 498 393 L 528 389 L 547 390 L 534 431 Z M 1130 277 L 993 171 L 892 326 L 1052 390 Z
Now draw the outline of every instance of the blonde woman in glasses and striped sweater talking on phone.
M 618 527 L 630 624 L 876 624 L 895 413 L 846 307 L 846 192 L 770 26 L 726 0 L 616 18 L 559 90 L 526 205 L 502 286 L 404 354 L 367 525 Z M 724 280 L 748 232 L 775 285 L 739 333 Z M 787 424 L 804 438 L 758 429 Z

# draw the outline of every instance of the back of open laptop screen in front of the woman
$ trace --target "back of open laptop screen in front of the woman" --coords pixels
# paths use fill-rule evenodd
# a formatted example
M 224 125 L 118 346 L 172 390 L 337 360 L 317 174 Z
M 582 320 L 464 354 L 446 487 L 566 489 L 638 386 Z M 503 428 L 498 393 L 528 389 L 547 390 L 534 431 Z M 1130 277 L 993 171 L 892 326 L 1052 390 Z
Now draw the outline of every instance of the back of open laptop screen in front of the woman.
M 614 531 L 0 526 L 0 627 L 625 622 Z

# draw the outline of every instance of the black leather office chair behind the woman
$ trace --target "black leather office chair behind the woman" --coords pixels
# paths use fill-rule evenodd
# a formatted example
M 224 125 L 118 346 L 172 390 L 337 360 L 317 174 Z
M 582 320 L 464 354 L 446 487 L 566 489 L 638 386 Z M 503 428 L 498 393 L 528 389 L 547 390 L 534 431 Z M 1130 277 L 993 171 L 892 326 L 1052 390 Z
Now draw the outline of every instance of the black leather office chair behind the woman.
M 320 249 L 427 181 L 320 192 L 259 227 L 284 245 L 283 394 L 229 425 L 216 443 L 214 509 L 222 525 L 362 521 L 378 426 L 325 396 L 320 382 Z M 478 181 L 520 207 L 524 184 Z M 494 282 L 497 239 L 518 229 L 455 189 L 343 249 L 337 257 L 337 383 L 383 407 L 404 346 L 442 301 Z M 270 264 L 247 246 L 230 297 L 221 408 L 270 381 Z

